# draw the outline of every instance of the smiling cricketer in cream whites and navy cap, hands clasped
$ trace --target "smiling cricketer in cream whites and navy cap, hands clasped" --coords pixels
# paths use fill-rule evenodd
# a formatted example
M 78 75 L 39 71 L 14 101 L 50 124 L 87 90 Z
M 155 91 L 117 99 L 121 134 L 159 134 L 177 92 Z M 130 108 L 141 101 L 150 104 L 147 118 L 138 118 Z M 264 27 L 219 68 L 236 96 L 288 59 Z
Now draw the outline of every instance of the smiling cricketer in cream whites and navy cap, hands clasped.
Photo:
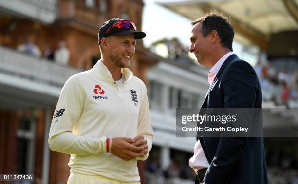
M 71 154 L 68 184 L 140 184 L 153 129 L 145 84 L 128 69 L 135 54 L 133 22 L 111 19 L 98 33 L 101 59 L 70 77 L 52 120 L 49 146 Z

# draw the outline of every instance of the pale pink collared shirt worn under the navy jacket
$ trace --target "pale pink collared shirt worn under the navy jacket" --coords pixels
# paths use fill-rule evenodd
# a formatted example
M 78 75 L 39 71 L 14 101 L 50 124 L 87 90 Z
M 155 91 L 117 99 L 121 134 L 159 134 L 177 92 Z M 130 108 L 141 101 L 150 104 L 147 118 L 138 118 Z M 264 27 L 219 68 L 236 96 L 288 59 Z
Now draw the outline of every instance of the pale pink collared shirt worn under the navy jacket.
M 230 56 L 233 55 L 233 52 L 228 52 L 227 54 L 223 55 L 223 57 L 217 61 L 217 63 L 211 68 L 211 70 L 209 71 L 209 74 L 216 74 L 218 73 L 218 71 L 221 69 L 221 67 L 223 66 L 224 61 Z M 208 76 L 209 76 L 208 74 Z M 214 78 L 215 78 L 214 76 Z M 213 78 L 213 79 L 214 79 Z M 210 85 L 213 82 L 213 79 L 210 83 Z M 209 81 L 208 81 L 209 82 Z M 193 148 L 193 156 L 189 159 L 188 164 L 191 168 L 193 168 L 193 170 L 195 172 L 197 172 L 198 170 L 204 169 L 204 168 L 208 168 L 210 166 L 209 162 L 207 161 L 207 158 L 205 156 L 205 153 L 203 151 L 202 145 L 200 143 L 200 140 L 198 140 Z

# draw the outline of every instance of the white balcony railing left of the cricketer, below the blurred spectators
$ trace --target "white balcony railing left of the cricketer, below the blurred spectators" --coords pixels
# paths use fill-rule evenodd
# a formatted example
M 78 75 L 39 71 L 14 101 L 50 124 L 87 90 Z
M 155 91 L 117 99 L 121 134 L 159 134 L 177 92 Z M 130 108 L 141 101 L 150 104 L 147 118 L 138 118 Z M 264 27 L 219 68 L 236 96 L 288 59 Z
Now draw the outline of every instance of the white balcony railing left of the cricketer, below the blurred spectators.
M 0 73 L 61 88 L 70 76 L 79 72 L 76 68 L 0 46 Z

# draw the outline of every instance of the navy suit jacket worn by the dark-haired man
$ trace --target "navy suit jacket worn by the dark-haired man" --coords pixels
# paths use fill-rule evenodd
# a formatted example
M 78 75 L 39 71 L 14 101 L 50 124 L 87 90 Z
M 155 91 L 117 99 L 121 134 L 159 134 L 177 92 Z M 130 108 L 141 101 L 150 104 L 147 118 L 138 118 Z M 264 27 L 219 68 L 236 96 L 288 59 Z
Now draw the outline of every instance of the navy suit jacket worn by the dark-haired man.
M 230 55 L 217 73 L 202 108 L 261 108 L 262 92 L 252 66 Z M 259 117 L 262 129 L 262 117 Z M 263 138 L 197 137 L 210 164 L 206 184 L 268 184 Z M 197 181 L 196 181 L 197 183 Z

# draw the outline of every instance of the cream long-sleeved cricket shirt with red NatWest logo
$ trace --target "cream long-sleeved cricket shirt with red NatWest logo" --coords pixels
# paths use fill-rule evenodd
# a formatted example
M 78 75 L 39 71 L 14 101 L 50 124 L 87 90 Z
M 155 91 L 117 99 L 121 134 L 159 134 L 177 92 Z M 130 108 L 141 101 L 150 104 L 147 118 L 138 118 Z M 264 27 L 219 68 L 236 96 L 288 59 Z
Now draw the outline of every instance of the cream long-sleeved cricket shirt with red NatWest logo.
M 125 82 L 117 85 L 99 60 L 91 70 L 70 77 L 62 88 L 52 120 L 51 150 L 71 154 L 72 173 L 99 175 L 121 182 L 140 181 L 137 160 L 124 161 L 108 153 L 106 138 L 143 135 L 151 150 L 146 86 L 122 68 Z M 111 145 L 111 144 L 110 144 Z

